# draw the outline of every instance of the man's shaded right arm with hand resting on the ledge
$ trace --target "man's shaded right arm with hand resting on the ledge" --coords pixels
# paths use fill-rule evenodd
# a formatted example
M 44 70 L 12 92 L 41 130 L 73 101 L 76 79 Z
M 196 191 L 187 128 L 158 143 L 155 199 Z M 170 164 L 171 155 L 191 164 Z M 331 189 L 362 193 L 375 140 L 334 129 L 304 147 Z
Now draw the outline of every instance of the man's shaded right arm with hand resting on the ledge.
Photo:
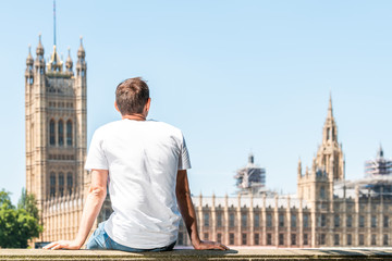
M 229 248 L 220 243 L 200 240 L 197 231 L 196 212 L 192 203 L 191 190 L 189 190 L 189 184 L 188 184 L 186 171 L 177 172 L 175 195 L 176 195 L 180 212 L 185 222 L 185 226 L 189 234 L 193 247 L 197 250 L 203 250 L 203 249 L 228 250 Z

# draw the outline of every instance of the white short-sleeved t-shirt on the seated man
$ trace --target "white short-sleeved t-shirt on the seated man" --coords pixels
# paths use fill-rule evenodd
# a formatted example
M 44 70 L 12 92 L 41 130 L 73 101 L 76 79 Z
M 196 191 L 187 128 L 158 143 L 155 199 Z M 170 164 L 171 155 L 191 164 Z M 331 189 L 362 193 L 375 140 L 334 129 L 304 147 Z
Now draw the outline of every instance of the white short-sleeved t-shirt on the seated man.
M 105 231 L 114 241 L 151 249 L 176 240 L 176 173 L 191 169 L 179 128 L 126 119 L 106 124 L 94 133 L 85 169 L 109 170 L 114 212 Z

